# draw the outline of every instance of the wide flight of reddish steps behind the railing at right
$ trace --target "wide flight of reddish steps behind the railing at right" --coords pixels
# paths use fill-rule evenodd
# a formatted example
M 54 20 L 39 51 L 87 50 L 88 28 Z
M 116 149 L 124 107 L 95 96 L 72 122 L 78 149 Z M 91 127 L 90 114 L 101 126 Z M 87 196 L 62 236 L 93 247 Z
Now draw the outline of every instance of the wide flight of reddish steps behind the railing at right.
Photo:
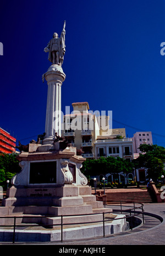
M 103 199 L 105 200 L 105 199 Z M 150 193 L 145 191 L 127 191 L 127 192 L 109 192 L 106 194 L 108 204 L 120 202 L 139 202 L 139 203 L 152 203 L 153 198 Z

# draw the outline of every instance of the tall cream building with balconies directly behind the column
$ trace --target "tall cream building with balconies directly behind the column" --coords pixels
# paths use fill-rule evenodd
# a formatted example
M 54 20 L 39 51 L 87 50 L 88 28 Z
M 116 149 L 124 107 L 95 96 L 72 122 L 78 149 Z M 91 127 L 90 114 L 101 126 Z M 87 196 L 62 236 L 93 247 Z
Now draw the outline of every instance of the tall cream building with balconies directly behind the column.
M 83 150 L 84 158 L 95 158 L 95 141 L 100 135 L 97 118 L 89 112 L 87 102 L 72 103 L 73 112 L 64 116 L 62 135 L 77 149 Z

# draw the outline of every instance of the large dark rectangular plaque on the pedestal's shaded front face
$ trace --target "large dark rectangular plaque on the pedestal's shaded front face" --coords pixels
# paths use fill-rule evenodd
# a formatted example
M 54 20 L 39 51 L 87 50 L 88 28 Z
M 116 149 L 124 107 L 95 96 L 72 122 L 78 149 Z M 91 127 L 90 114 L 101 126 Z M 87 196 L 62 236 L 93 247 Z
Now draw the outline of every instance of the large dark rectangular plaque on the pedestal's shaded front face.
M 30 184 L 56 183 L 56 161 L 30 163 Z

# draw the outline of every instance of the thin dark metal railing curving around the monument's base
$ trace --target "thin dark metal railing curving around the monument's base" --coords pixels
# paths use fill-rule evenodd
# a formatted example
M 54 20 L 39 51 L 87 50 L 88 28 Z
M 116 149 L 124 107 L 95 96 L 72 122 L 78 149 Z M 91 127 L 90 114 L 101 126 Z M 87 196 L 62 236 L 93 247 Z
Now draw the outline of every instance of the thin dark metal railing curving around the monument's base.
M 129 202 L 129 201 L 128 201 Z M 125 203 L 125 202 L 124 202 Z M 130 202 L 129 202 L 130 203 Z M 115 210 L 115 211 L 110 211 L 110 212 L 102 212 L 102 213 L 89 213 L 89 214 L 80 214 L 80 215 L 74 215 L 74 216 L 94 216 L 94 215 L 102 215 L 102 221 L 101 220 L 99 220 L 99 221 L 89 221 L 89 222 L 78 222 L 78 223 L 63 223 L 63 217 L 73 217 L 73 215 L 61 215 L 61 216 L 58 216 L 58 217 L 61 217 L 61 223 L 59 223 L 59 224 L 23 224 L 23 223 L 21 223 L 21 225 L 20 224 L 16 224 L 17 223 L 17 219 L 18 218 L 48 218 L 48 217 L 57 217 L 57 216 L 37 216 L 37 215 L 34 215 L 34 216 L 10 216 L 10 217 L 7 217 L 7 216 L 0 216 L 0 219 L 7 219 L 7 218 L 13 218 L 13 225 L 0 225 L 0 227 L 13 227 L 13 243 L 15 243 L 15 231 L 16 231 L 16 229 L 17 229 L 17 227 L 39 227 L 39 226 L 41 226 L 41 227 L 54 227 L 54 226 L 61 226 L 61 242 L 63 241 L 63 226 L 66 226 L 66 225 L 69 225 L 69 226 L 71 226 L 72 224 L 73 225 L 79 225 L 79 224 L 90 224 L 90 223 L 101 223 L 102 222 L 102 227 L 103 227 L 103 237 L 105 237 L 106 235 L 105 235 L 105 223 L 106 222 L 108 222 L 109 220 L 123 220 L 123 219 L 125 219 L 125 220 L 127 220 L 127 219 L 129 219 L 130 220 L 130 229 L 132 230 L 133 229 L 133 217 L 135 217 L 135 216 L 139 216 L 139 215 L 142 215 L 142 220 L 143 220 L 143 224 L 145 223 L 144 222 L 144 208 L 143 208 L 143 204 L 142 203 L 138 203 L 140 206 L 139 207 L 136 207 L 135 206 L 135 204 L 136 204 L 136 202 L 132 202 L 133 203 L 133 206 L 128 206 L 128 207 L 130 207 L 129 209 L 127 209 L 127 210 L 124 210 L 123 209 L 123 205 L 122 205 L 122 201 L 120 202 L 120 210 Z M 103 201 L 103 204 L 104 204 L 104 206 L 106 207 L 106 205 L 107 205 L 107 201 Z M 112 206 L 112 205 L 111 205 Z M 125 205 L 124 205 L 124 207 L 126 207 Z M 137 209 L 140 209 L 141 211 L 140 212 L 136 212 L 135 210 L 137 210 Z M 120 212 L 121 214 L 123 213 L 123 212 L 127 212 L 127 213 L 129 213 L 129 215 L 128 216 L 125 216 L 125 217 L 120 217 L 120 218 L 113 218 L 113 217 L 108 217 L 107 218 L 107 220 L 105 219 L 105 214 L 107 214 L 107 213 L 118 213 L 118 212 Z M 38 230 L 38 228 L 37 228 L 37 230 Z

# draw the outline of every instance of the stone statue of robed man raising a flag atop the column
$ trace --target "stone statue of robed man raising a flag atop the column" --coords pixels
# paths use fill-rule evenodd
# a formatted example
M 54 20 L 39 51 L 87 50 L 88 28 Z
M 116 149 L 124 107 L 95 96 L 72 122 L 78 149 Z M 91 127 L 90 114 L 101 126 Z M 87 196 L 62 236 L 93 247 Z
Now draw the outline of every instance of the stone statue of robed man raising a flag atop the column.
M 61 37 L 58 38 L 58 34 L 54 33 L 53 38 L 49 41 L 48 45 L 44 49 L 48 54 L 48 60 L 53 64 L 62 66 L 65 54 L 65 21 Z

